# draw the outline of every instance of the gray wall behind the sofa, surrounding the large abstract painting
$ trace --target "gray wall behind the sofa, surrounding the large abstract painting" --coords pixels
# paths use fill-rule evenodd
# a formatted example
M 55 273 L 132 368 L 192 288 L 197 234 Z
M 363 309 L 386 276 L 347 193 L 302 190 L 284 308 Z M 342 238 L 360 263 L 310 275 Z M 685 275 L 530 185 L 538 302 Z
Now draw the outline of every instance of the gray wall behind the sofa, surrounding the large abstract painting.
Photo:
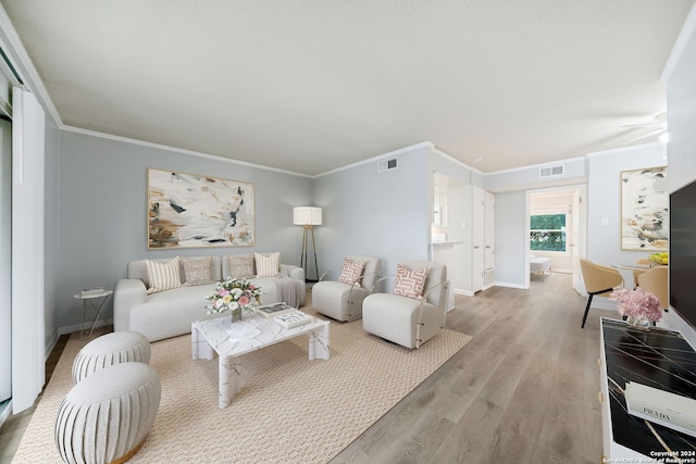
M 148 250 L 148 167 L 253 183 L 256 246 Z M 132 260 L 279 251 L 283 263 L 299 265 L 302 229 L 293 225 L 293 206 L 311 203 L 309 177 L 65 130 L 59 172 L 52 330 L 79 324 L 82 302 L 73 296 L 86 287 L 114 288 Z

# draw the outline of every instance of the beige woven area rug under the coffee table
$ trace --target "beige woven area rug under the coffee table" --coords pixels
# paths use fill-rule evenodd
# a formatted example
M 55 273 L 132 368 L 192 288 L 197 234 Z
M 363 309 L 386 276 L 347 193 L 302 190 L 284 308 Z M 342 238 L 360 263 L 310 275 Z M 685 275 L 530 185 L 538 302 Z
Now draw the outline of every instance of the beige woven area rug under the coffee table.
M 129 463 L 325 463 L 460 350 L 470 336 L 445 330 L 419 350 L 368 335 L 362 322 L 331 325 L 332 358 L 308 360 L 308 337 L 241 358 L 233 404 L 217 407 L 217 359 L 192 361 L 190 335 L 152 343 L 162 400 Z M 53 425 L 85 344 L 71 339 L 13 463 L 60 463 Z

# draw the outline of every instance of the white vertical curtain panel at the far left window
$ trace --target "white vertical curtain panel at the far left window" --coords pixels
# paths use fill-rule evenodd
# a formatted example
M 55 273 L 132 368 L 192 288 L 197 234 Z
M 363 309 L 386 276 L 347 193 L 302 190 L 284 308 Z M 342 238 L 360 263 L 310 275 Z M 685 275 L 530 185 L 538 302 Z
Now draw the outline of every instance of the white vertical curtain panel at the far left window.
M 12 410 L 32 406 L 46 380 L 44 290 L 45 115 L 12 90 Z

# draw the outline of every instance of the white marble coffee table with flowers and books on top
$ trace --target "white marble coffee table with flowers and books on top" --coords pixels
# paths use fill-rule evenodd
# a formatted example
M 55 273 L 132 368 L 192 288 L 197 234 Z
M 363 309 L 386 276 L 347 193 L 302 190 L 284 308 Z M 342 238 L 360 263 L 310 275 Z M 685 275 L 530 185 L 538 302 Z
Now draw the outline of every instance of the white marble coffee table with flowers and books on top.
M 239 356 L 283 340 L 309 333 L 309 359 L 328 360 L 328 321 L 312 317 L 312 322 L 295 328 L 285 328 L 272 318 L 254 314 L 245 319 L 256 323 L 246 334 L 231 335 L 232 321 L 228 315 L 210 321 L 191 323 L 191 358 L 212 360 L 219 356 L 219 404 L 227 407 L 241 387 Z

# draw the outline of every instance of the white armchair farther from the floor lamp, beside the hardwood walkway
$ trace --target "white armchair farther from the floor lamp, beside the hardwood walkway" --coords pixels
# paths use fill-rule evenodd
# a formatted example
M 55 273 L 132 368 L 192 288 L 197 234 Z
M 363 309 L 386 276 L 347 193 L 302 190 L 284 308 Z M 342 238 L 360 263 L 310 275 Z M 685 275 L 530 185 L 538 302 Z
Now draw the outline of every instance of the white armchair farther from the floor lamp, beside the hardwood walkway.
M 377 337 L 406 348 L 419 348 L 445 328 L 449 287 L 447 267 L 428 261 L 405 261 L 399 264 L 411 272 L 427 268 L 422 298 L 394 292 L 372 293 L 362 304 L 362 326 Z M 391 277 L 397 279 L 395 287 L 399 286 L 399 266 L 396 276 L 385 279 Z

